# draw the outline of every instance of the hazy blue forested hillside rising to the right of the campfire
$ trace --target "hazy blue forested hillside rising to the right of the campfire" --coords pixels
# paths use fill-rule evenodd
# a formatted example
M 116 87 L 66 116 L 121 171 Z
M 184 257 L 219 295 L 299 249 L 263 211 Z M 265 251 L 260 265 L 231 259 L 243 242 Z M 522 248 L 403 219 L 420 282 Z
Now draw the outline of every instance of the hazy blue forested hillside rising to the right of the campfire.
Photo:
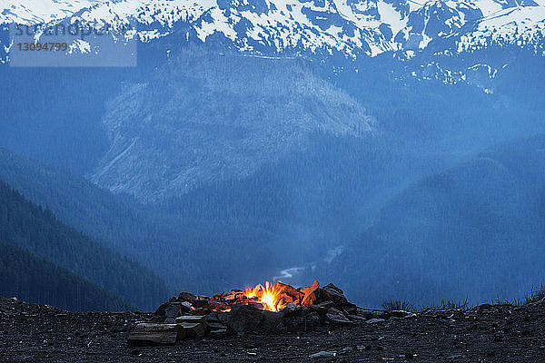
M 545 279 L 545 135 L 401 191 L 328 269 L 369 304 L 522 296 Z

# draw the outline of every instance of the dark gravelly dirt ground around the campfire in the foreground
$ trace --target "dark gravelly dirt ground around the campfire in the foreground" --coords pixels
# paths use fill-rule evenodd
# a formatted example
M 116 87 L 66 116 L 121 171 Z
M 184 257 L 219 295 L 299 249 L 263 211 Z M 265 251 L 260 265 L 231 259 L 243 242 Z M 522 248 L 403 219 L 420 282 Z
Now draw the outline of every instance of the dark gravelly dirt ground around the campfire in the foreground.
M 133 347 L 145 313 L 75 313 L 0 299 L 1 362 L 545 362 L 545 302 L 484 305 L 350 328 Z M 334 358 L 310 358 L 320 351 Z

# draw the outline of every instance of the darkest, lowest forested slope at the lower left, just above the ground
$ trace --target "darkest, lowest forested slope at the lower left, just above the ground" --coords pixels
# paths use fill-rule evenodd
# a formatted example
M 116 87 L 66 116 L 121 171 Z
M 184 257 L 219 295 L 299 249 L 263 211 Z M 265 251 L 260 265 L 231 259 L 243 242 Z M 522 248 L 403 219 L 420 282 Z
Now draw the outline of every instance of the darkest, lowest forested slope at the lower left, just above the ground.
M 134 310 L 118 295 L 26 250 L 0 242 L 0 296 L 80 311 Z

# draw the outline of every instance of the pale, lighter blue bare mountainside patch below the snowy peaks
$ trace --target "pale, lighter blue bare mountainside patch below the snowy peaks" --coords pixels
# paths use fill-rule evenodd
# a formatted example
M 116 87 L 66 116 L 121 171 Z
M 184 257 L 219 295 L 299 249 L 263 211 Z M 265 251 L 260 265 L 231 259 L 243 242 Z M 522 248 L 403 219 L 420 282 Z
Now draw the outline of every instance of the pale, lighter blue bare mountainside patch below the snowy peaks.
M 372 119 L 302 60 L 182 52 L 126 86 L 103 118 L 110 148 L 90 179 L 139 201 L 253 174 L 314 132 L 366 135 Z

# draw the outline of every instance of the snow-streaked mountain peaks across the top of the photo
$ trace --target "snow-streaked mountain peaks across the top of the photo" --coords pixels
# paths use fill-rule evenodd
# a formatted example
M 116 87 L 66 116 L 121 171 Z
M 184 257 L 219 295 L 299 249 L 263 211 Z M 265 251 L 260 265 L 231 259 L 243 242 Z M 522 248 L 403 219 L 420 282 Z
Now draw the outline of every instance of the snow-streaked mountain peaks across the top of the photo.
M 374 56 L 447 42 L 450 52 L 492 43 L 539 44 L 545 0 L 10 0 L 0 24 L 69 19 L 136 24 L 137 39 L 220 40 L 260 54 Z

